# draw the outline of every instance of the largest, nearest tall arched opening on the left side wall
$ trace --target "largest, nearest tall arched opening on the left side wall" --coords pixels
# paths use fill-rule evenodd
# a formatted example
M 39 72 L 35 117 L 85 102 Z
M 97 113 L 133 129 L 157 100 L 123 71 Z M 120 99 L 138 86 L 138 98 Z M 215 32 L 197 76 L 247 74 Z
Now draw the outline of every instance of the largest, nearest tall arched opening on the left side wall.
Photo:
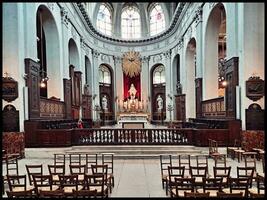
M 40 96 L 59 97 L 63 90 L 60 75 L 59 35 L 55 19 L 44 5 L 37 9 L 36 33 L 41 77 Z M 57 87 L 54 87 L 55 85 Z

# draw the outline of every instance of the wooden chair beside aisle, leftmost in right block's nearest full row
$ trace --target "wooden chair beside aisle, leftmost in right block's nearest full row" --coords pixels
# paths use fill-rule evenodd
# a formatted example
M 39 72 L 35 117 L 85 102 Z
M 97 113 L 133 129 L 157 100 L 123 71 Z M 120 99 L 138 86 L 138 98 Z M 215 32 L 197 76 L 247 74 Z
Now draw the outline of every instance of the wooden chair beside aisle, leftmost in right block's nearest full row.
M 185 192 L 195 192 L 195 178 L 176 177 L 171 197 L 184 197 Z

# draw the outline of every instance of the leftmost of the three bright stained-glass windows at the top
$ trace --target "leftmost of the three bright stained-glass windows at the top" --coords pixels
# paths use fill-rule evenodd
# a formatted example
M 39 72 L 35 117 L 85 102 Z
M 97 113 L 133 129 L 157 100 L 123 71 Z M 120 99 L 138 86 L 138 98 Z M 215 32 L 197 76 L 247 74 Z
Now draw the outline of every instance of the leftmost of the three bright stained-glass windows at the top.
M 97 14 L 97 19 L 96 19 L 96 27 L 97 29 L 106 34 L 106 35 L 111 35 L 111 30 L 112 30 L 112 19 L 111 19 L 111 11 L 110 8 L 102 3 L 99 7 L 99 11 Z

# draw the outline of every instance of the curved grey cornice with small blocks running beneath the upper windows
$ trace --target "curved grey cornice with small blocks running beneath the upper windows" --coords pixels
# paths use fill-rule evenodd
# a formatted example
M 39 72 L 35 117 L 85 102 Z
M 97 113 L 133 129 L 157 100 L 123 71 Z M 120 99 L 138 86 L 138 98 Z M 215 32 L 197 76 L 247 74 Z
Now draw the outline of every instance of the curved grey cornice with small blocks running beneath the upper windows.
M 154 41 L 154 40 L 158 40 L 158 39 L 160 39 L 160 38 L 162 38 L 164 36 L 167 36 L 169 33 L 171 33 L 173 31 L 174 27 L 177 24 L 177 21 L 179 19 L 180 14 L 182 13 L 182 10 L 183 10 L 185 4 L 186 3 L 184 3 L 184 2 L 179 3 L 178 8 L 176 9 L 175 15 L 174 15 L 174 17 L 172 19 L 171 25 L 169 26 L 169 28 L 166 31 L 164 31 L 163 33 L 161 33 L 159 35 L 156 35 L 154 37 L 149 37 L 149 38 L 145 38 L 145 39 L 136 39 L 136 40 L 124 40 L 124 39 L 119 39 L 119 38 L 112 38 L 112 37 L 109 37 L 107 35 L 104 35 L 104 34 L 100 33 L 93 26 L 91 20 L 88 17 L 88 14 L 87 14 L 85 8 L 84 8 L 84 5 L 82 3 L 77 3 L 77 6 L 78 6 L 81 14 L 83 15 L 88 27 L 92 31 L 92 33 L 94 33 L 98 37 L 101 37 L 103 39 L 106 39 L 106 40 L 109 40 L 109 41 L 113 41 L 113 42 L 126 43 L 126 44 L 135 44 L 135 43 L 144 43 L 144 42 L 151 42 L 151 41 Z

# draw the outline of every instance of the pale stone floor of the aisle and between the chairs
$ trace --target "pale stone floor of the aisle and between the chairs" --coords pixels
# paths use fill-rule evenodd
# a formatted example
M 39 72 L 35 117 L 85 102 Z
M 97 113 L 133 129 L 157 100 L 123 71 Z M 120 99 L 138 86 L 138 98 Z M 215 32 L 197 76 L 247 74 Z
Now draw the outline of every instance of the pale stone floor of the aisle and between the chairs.
M 208 152 L 207 147 L 196 148 L 202 152 Z M 62 149 L 64 148 L 26 149 L 26 158 L 19 160 L 19 173 L 26 174 L 25 164 L 43 164 L 44 174 L 47 174 L 47 164 L 53 164 L 52 153 L 60 152 Z M 219 148 L 219 152 L 226 153 L 226 148 Z M 214 160 L 209 158 L 208 162 L 209 174 L 212 174 Z M 192 163 L 194 164 L 194 161 Z M 262 162 L 257 161 L 256 164 L 257 172 L 262 172 Z M 2 166 L 3 175 L 5 175 L 6 167 L 4 164 Z M 232 167 L 231 176 L 236 177 L 236 167 L 244 166 L 244 161 L 238 163 L 237 160 L 227 158 L 227 166 Z M 167 197 L 161 185 L 159 158 L 114 159 L 114 177 L 115 186 L 110 197 Z M 8 186 L 5 185 L 5 189 L 7 188 Z

